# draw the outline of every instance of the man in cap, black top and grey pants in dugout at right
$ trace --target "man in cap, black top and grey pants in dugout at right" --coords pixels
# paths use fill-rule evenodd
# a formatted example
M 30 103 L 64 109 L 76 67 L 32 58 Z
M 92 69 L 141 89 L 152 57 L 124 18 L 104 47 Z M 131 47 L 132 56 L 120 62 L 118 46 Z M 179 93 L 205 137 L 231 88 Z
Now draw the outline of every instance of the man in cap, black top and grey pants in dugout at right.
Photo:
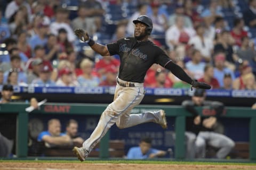
M 218 148 L 215 158 L 225 158 L 231 149 L 235 146 L 235 142 L 223 133 L 223 127 L 218 122 L 217 117 L 225 112 L 223 103 L 219 101 L 205 100 L 206 91 L 196 89 L 191 100 L 182 102 L 182 106 L 192 115 L 186 119 L 186 134 L 195 140 L 195 157 L 206 157 L 206 146 Z M 196 107 L 207 106 L 216 113 L 213 116 L 202 117 L 198 113 Z

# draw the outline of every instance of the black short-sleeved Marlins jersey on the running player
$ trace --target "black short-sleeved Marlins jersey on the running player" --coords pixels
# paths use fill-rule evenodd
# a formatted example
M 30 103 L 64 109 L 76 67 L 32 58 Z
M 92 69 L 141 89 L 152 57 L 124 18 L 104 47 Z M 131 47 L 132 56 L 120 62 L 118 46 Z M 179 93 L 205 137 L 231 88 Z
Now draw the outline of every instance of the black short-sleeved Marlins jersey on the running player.
M 107 44 L 110 55 L 120 56 L 118 77 L 124 81 L 144 82 L 147 70 L 154 63 L 165 66 L 170 62 L 166 53 L 151 41 L 137 41 L 134 37 L 122 38 Z

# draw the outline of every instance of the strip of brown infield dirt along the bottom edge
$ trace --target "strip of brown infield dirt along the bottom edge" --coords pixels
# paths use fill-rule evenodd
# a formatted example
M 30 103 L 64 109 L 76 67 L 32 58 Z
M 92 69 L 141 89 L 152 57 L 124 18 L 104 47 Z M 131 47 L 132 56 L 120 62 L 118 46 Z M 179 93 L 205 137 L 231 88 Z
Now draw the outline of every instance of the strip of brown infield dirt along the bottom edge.
M 163 165 L 163 164 L 87 164 L 87 163 L 0 163 L 0 170 L 148 170 L 148 169 L 256 169 L 249 165 Z

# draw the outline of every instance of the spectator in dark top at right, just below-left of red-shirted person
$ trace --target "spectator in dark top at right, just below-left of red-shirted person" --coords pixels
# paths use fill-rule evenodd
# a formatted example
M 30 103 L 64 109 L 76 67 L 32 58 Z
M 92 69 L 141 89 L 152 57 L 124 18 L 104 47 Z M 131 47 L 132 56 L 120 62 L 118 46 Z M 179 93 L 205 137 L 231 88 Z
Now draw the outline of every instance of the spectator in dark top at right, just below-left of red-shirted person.
M 214 54 L 225 53 L 226 54 L 225 65 L 229 67 L 230 70 L 235 71 L 236 69 L 235 61 L 238 60 L 238 57 L 233 52 L 233 46 L 230 43 L 231 35 L 229 31 L 221 31 L 219 34 L 220 36 L 217 36 L 218 38 L 215 40 Z

